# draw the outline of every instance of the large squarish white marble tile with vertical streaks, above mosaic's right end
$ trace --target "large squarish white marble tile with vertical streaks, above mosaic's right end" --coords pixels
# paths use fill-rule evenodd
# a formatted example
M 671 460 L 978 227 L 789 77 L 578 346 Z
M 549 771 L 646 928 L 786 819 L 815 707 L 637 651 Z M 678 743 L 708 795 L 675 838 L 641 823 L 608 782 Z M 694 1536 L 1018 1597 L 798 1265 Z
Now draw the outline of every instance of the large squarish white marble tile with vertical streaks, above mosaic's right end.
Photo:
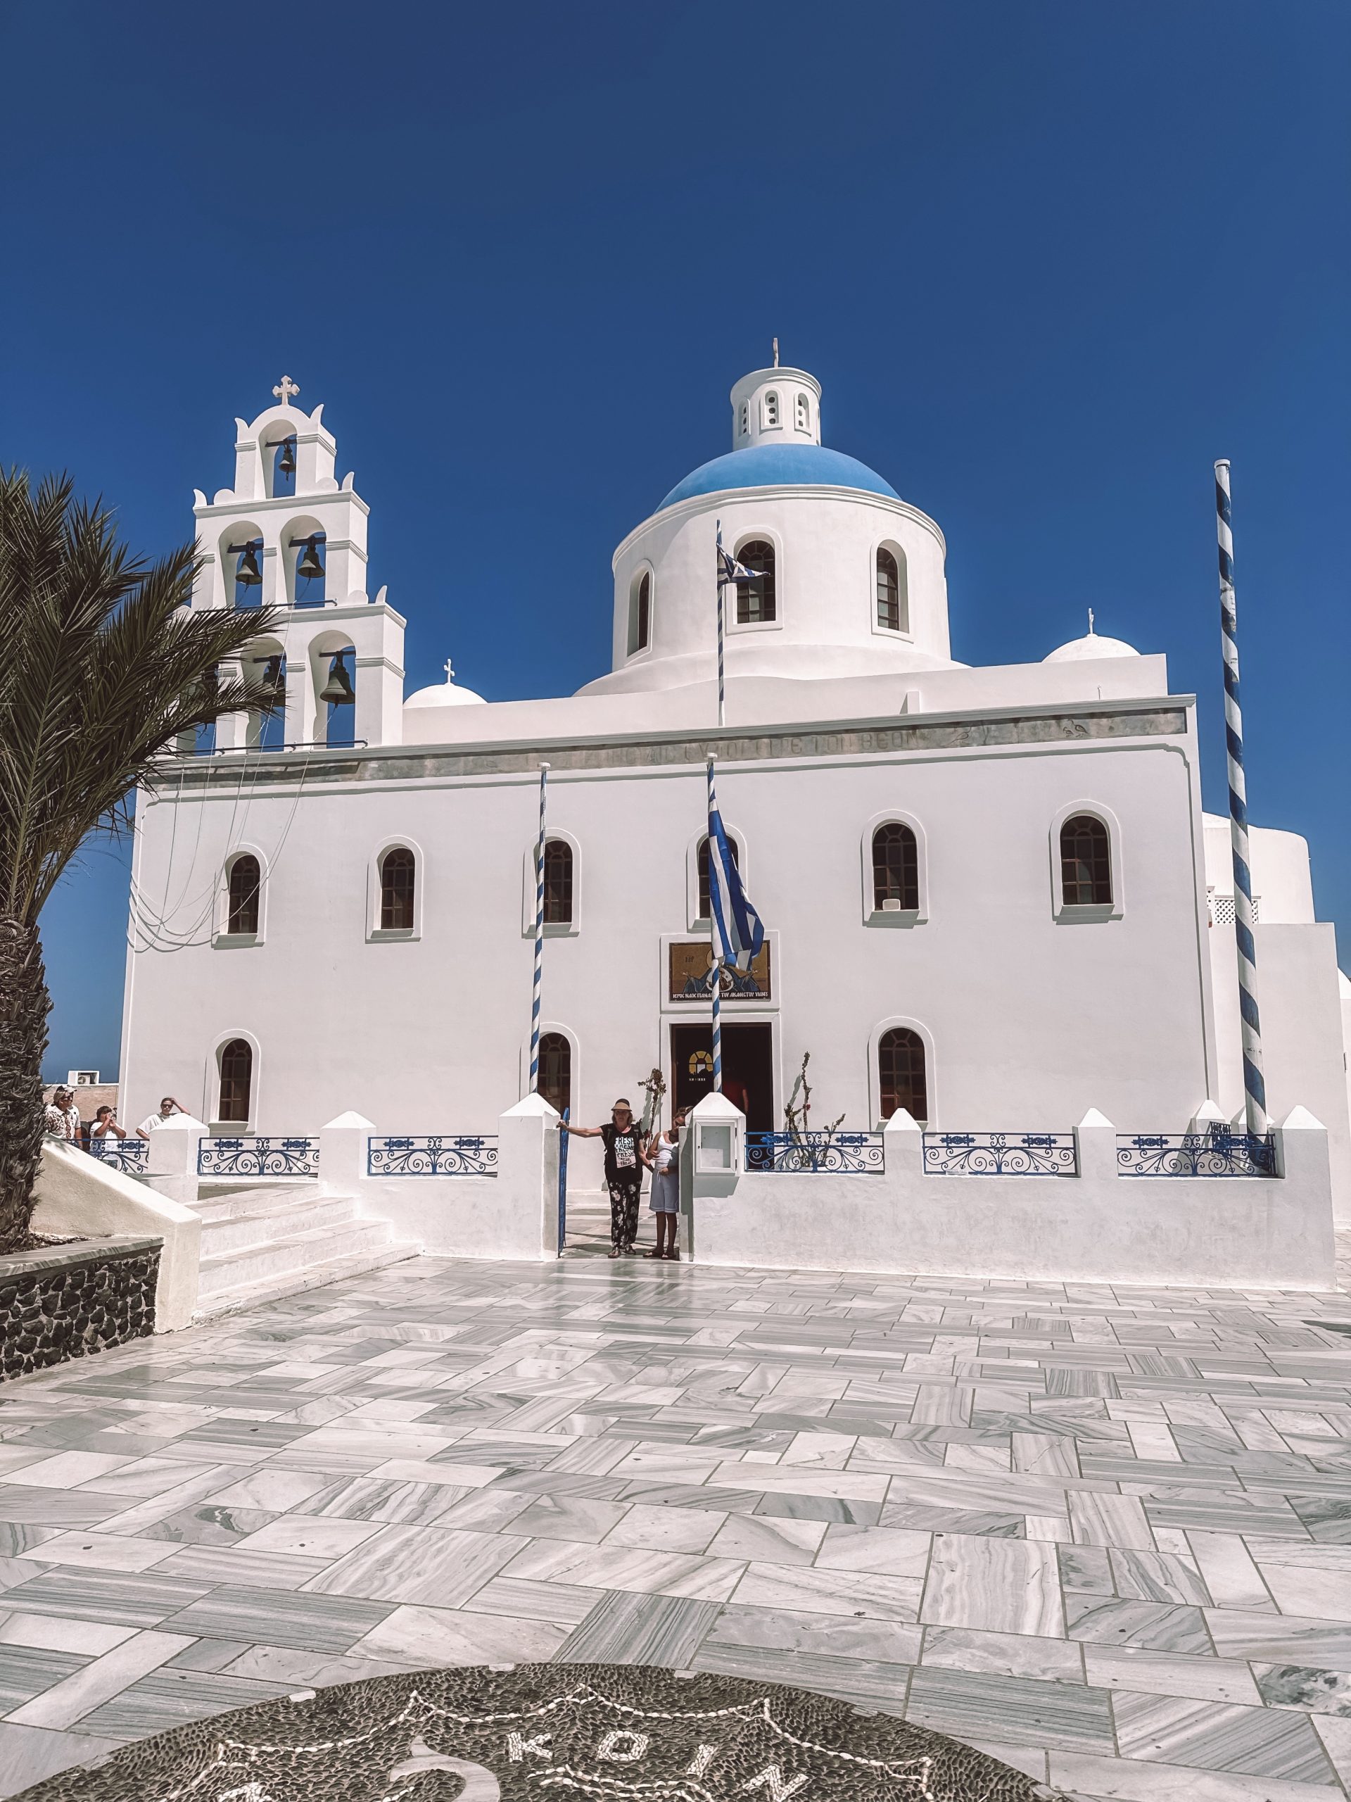
M 938 1535 L 920 1618 L 935 1627 L 1061 1636 L 1065 1611 L 1056 1546 Z

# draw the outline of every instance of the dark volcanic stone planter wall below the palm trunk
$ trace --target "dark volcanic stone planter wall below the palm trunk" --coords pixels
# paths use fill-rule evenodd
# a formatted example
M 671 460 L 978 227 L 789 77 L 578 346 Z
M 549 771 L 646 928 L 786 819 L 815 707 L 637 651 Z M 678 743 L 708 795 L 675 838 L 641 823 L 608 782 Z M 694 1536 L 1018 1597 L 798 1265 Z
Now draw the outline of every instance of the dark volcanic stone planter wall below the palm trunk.
M 162 1240 L 83 1240 L 0 1258 L 0 1375 L 155 1332 Z

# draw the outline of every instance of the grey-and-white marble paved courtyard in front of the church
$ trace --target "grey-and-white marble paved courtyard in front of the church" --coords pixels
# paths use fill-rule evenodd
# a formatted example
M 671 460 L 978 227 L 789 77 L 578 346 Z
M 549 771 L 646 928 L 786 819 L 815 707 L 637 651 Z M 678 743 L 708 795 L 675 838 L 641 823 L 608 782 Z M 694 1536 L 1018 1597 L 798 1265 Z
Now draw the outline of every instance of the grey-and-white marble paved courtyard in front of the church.
M 1351 1297 L 414 1260 L 0 1391 L 0 1789 L 429 1663 L 1351 1784 Z

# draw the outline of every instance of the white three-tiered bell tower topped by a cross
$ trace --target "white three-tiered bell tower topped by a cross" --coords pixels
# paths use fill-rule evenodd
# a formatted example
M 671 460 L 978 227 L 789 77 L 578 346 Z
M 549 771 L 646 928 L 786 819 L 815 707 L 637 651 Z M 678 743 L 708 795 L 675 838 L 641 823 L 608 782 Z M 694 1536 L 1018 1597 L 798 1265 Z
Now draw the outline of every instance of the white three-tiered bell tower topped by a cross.
M 369 506 L 355 478 L 337 479 L 337 443 L 322 405 L 295 405 L 288 375 L 276 405 L 234 422 L 234 487 L 195 490 L 202 568 L 195 607 L 281 607 L 247 652 L 252 674 L 285 683 L 281 715 L 232 715 L 220 750 L 398 744 L 403 735 L 403 618 L 382 587 L 367 595 Z M 247 674 L 247 672 L 245 672 Z

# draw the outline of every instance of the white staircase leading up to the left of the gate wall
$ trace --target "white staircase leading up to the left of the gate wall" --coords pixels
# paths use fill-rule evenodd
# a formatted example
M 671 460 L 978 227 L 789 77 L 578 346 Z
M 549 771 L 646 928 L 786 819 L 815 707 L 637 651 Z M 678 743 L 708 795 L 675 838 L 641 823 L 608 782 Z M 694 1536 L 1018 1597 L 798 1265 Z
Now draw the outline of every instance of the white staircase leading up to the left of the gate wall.
M 360 1220 L 351 1197 L 319 1195 L 304 1179 L 204 1179 L 195 1207 L 202 1215 L 195 1319 L 378 1270 L 418 1251 L 391 1243 L 387 1220 Z

